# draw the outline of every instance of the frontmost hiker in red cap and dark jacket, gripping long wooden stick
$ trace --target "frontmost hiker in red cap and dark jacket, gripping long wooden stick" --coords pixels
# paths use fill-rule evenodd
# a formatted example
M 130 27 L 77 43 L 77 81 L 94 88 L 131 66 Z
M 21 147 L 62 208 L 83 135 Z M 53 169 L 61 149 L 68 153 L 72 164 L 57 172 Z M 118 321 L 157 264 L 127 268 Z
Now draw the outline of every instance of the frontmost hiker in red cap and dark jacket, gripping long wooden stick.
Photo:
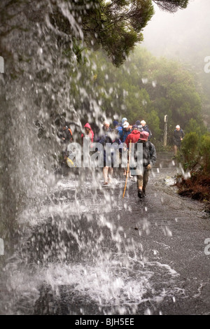
M 151 141 L 148 141 L 148 137 L 148 132 L 140 132 L 139 141 L 137 141 L 137 143 L 143 144 L 143 175 L 137 175 L 138 197 L 140 199 L 146 197 L 148 178 L 157 158 L 155 146 Z

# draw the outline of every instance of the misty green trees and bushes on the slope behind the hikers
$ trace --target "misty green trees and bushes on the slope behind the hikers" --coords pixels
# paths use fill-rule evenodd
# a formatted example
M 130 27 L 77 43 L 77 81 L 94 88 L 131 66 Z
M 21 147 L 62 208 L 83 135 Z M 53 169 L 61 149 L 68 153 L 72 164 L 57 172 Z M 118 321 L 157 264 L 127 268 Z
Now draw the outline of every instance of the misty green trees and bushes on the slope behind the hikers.
M 146 120 L 156 141 L 163 139 L 165 114 L 169 118 L 169 144 L 177 124 L 186 133 L 206 132 L 194 76 L 177 62 L 157 59 L 138 47 L 120 68 L 114 67 L 101 52 L 94 52 L 90 62 L 80 65 L 79 71 L 86 82 L 85 85 L 83 80 L 76 82 L 73 98 L 76 109 L 84 109 L 84 116 L 90 111 L 88 99 L 92 95 L 111 120 L 113 116 L 118 120 L 127 117 L 130 124 Z M 84 88 L 88 97 L 81 99 L 77 96 L 78 90 Z

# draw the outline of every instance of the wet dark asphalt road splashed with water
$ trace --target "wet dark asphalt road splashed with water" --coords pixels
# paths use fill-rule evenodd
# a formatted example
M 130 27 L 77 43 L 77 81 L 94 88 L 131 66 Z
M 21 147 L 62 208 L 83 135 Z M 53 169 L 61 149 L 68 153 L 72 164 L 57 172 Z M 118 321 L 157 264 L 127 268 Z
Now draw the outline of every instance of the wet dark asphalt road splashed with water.
M 133 179 L 123 199 L 118 174 L 106 188 L 102 172 L 57 179 L 18 219 L 1 314 L 210 314 L 210 218 L 175 175 L 159 154 L 144 200 Z

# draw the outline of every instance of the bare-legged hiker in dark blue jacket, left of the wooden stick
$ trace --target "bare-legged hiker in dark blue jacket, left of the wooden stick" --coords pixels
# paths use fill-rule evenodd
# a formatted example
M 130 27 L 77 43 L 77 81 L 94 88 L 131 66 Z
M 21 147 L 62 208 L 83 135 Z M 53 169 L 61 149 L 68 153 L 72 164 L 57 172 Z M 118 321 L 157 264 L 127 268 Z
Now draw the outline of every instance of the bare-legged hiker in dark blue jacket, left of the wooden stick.
M 118 152 L 119 151 L 120 153 L 122 152 L 123 144 L 118 138 L 117 130 L 112 130 L 111 133 L 106 134 L 106 136 L 104 136 L 99 141 L 99 143 L 101 143 L 104 146 L 103 176 L 104 176 L 104 185 L 108 185 L 108 183 L 111 183 L 111 179 L 113 176 L 113 167 L 115 165 L 114 156 L 119 157 Z M 110 143 L 112 145 L 110 145 Z M 111 157 L 109 155 L 111 155 Z

